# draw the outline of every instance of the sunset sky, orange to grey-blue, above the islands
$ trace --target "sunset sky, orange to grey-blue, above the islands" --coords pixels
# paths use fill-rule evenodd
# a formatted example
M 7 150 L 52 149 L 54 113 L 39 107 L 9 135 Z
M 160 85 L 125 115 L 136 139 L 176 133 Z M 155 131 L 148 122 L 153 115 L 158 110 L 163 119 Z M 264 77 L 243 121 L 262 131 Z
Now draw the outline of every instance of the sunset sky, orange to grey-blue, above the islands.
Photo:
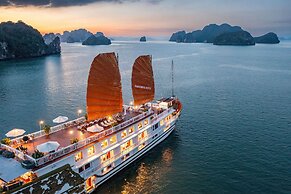
M 85 28 L 108 36 L 170 36 L 210 23 L 239 25 L 252 35 L 291 35 L 291 0 L 0 0 L 0 22 L 42 34 Z

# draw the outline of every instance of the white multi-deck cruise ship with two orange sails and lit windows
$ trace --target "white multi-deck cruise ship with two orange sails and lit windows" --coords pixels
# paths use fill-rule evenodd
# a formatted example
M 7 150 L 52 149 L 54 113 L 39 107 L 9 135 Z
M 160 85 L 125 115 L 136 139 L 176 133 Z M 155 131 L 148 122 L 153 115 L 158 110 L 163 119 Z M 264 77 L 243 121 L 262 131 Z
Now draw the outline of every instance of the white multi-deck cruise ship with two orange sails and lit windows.
M 182 110 L 177 97 L 155 100 L 152 58 L 132 67 L 133 102 L 123 104 L 115 53 L 90 67 L 85 116 L 0 144 L 0 191 L 91 193 L 166 139 Z

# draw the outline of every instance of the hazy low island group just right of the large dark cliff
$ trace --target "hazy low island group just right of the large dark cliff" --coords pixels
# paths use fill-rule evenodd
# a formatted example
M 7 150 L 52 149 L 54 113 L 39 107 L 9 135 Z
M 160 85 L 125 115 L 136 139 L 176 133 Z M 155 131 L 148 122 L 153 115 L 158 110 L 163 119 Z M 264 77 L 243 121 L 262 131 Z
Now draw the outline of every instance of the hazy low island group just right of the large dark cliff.
M 75 43 L 81 42 L 83 45 L 109 45 L 111 41 L 102 32 L 93 34 L 86 29 L 77 29 L 72 31 L 64 31 L 60 33 L 48 33 L 43 36 L 45 42 L 52 41 L 55 37 L 59 37 L 61 42 Z

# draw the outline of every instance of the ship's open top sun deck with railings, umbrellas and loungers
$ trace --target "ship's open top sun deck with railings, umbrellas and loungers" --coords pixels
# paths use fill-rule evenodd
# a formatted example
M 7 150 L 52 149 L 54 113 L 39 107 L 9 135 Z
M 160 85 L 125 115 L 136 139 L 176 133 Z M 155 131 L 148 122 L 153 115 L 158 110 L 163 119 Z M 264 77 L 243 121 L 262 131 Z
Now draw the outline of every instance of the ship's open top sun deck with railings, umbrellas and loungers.
M 81 117 L 65 124 L 51 127 L 49 135 L 42 130 L 26 135 L 29 137 L 27 142 L 23 141 L 23 136 L 12 139 L 9 146 L 1 144 L 1 149 L 14 152 L 16 159 L 19 161 L 29 160 L 34 166 L 41 167 L 48 162 L 83 149 L 85 146 L 97 142 L 106 136 L 117 133 L 151 115 L 153 115 L 151 122 L 154 122 L 169 112 L 168 108 L 161 108 L 162 102 L 165 101 L 160 100 L 151 106 L 141 106 L 139 108 L 125 106 L 123 113 L 90 122 Z M 73 141 L 76 139 L 77 141 Z M 57 142 L 59 144 L 58 148 L 43 153 L 43 156 L 32 157 L 38 145 L 49 141 Z

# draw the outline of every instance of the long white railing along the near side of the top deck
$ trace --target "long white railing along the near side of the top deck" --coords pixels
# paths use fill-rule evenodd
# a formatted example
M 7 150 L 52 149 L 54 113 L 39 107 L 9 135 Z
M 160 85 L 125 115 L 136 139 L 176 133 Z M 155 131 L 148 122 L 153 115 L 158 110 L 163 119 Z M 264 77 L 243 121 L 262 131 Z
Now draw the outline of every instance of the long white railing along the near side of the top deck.
M 64 155 L 66 155 L 66 154 L 68 154 L 70 152 L 73 152 L 73 151 L 75 151 L 75 150 L 77 150 L 77 149 L 79 149 L 81 147 L 89 145 L 92 142 L 97 141 L 98 139 L 101 139 L 101 138 L 103 138 L 103 137 L 105 137 L 107 135 L 115 133 L 115 132 L 119 131 L 120 129 L 123 129 L 123 128 L 133 124 L 134 122 L 136 122 L 138 120 L 141 120 L 142 118 L 145 118 L 145 117 L 147 117 L 147 116 L 149 116 L 151 114 L 153 114 L 153 111 L 151 111 L 151 110 L 149 110 L 147 112 L 144 112 L 142 114 L 139 114 L 138 116 L 133 117 L 132 119 L 129 119 L 128 121 L 125 121 L 124 123 L 121 123 L 121 124 L 119 124 L 119 125 L 117 125 L 115 127 L 112 127 L 112 128 L 110 128 L 108 130 L 105 130 L 105 131 L 103 131 L 101 133 L 97 133 L 97 134 L 95 134 L 93 136 L 90 136 L 90 137 L 88 137 L 88 138 L 86 138 L 86 139 L 84 139 L 82 141 L 79 141 L 79 142 L 77 142 L 75 144 L 72 144 L 72 145 L 69 145 L 69 146 L 67 146 L 65 148 L 62 148 L 62 149 L 60 149 L 60 150 L 58 150 L 58 151 L 56 151 L 54 153 L 45 155 L 42 158 L 36 159 L 35 164 L 36 164 L 36 166 L 40 166 L 40 165 L 43 165 L 43 164 L 45 164 L 47 162 L 53 161 L 53 160 L 55 160 L 55 159 L 57 159 L 57 158 L 59 158 L 61 156 L 64 156 Z

